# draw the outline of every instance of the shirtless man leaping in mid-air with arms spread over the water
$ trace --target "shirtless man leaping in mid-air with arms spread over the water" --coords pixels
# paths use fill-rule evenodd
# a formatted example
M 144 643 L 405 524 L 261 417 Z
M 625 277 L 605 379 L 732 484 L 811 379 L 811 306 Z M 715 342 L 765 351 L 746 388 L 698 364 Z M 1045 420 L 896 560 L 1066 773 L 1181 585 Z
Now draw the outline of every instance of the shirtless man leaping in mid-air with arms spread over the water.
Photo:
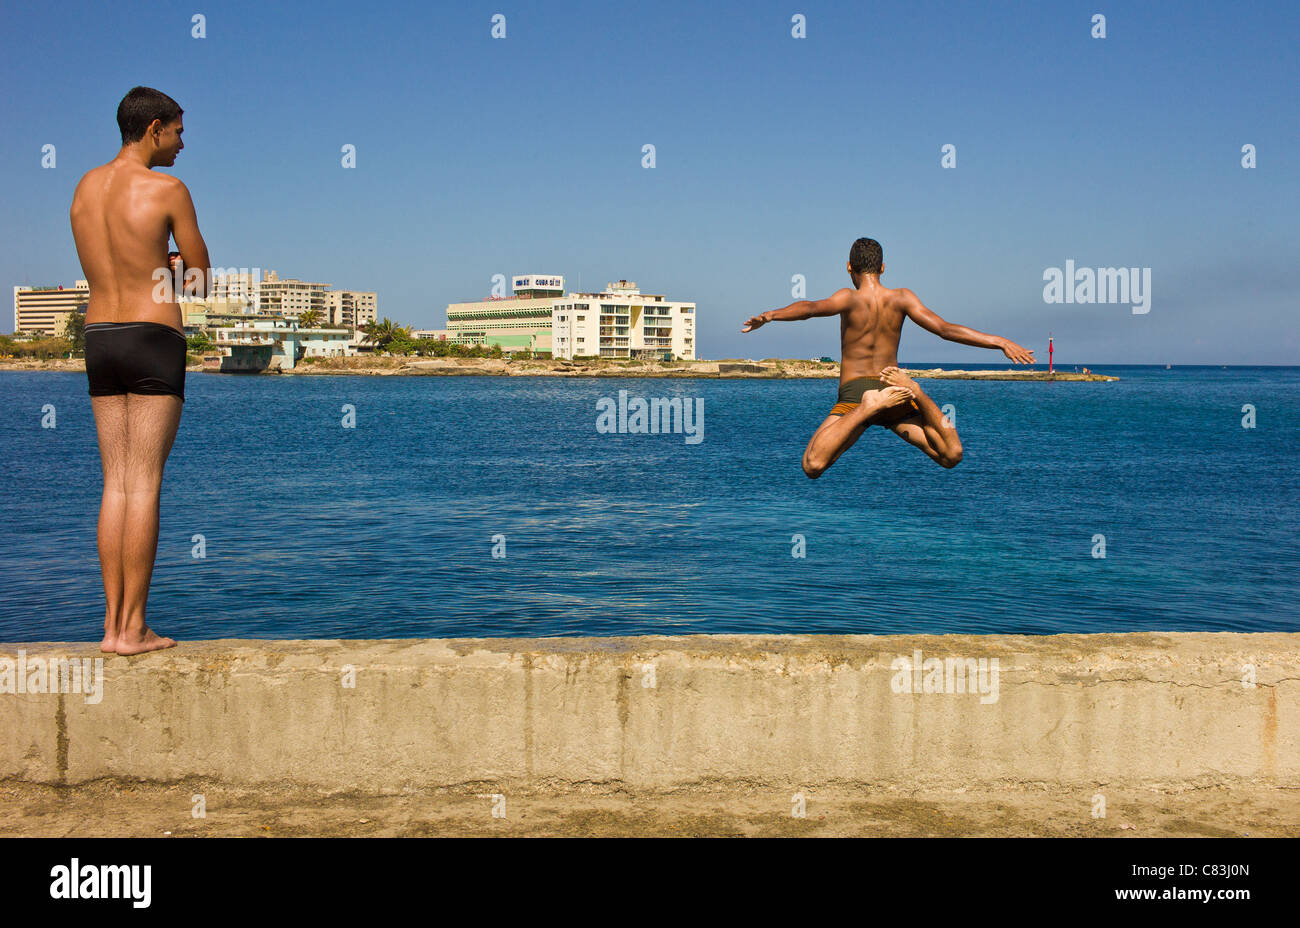
M 845 287 L 824 300 L 800 300 L 770 309 L 741 329 L 753 331 L 777 320 L 840 317 L 840 395 L 803 451 L 803 473 L 809 477 L 820 477 L 871 425 L 889 429 L 942 467 L 961 463 L 957 429 L 916 382 L 898 369 L 898 337 L 905 320 L 949 342 L 1000 348 L 1017 364 L 1034 364 L 1034 352 L 1009 338 L 945 322 L 906 287 L 881 286 L 884 269 L 880 243 L 859 238 L 849 251 L 852 290 Z

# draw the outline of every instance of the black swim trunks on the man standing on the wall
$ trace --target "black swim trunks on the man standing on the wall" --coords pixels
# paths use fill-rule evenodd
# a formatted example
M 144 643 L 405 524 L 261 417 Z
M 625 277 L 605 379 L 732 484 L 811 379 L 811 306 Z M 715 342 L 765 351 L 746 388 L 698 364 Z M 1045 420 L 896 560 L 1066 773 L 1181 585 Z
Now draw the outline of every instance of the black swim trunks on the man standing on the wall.
M 86 378 L 91 396 L 170 394 L 185 402 L 185 335 L 161 322 L 91 322 Z

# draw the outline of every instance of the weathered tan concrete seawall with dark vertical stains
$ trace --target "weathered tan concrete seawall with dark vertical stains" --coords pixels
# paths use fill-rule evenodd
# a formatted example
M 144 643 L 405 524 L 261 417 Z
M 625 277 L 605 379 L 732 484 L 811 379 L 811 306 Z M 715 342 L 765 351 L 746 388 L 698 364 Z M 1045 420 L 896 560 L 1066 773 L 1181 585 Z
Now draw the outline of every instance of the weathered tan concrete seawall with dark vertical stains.
M 997 701 L 896 693 L 914 650 L 996 658 Z M 1300 634 L 207 641 L 108 656 L 98 704 L 0 695 L 0 780 L 1296 789 L 1297 697 Z

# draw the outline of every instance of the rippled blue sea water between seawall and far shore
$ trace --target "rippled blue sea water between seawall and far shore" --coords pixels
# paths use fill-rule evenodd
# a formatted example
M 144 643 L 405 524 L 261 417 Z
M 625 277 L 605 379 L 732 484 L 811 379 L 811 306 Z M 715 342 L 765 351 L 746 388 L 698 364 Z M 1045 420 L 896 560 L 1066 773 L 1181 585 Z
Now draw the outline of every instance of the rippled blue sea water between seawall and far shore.
M 1297 630 L 1300 368 L 1089 367 L 1122 380 L 922 381 L 956 408 L 959 467 L 868 429 L 816 481 L 800 459 L 833 380 L 191 373 L 148 620 L 181 639 Z M 620 389 L 701 398 L 703 441 L 597 432 Z M 0 641 L 98 641 L 84 374 L 0 372 Z

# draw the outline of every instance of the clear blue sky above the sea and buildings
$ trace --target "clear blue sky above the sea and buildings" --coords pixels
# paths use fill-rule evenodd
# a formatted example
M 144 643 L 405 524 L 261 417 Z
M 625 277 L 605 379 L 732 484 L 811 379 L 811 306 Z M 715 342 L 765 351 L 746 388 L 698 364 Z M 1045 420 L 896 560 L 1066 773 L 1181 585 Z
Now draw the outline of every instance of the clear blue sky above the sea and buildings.
M 740 328 L 793 274 L 848 286 L 868 235 L 887 285 L 1044 360 L 1050 330 L 1065 364 L 1296 364 L 1297 39 L 1294 0 L 5 4 L 0 283 L 82 276 L 72 192 L 146 84 L 186 110 L 168 170 L 214 264 L 403 324 L 581 274 L 697 302 L 706 357 L 838 356 L 835 320 Z M 1149 266 L 1150 312 L 1045 304 L 1066 259 Z M 1002 360 L 911 326 L 901 359 Z

